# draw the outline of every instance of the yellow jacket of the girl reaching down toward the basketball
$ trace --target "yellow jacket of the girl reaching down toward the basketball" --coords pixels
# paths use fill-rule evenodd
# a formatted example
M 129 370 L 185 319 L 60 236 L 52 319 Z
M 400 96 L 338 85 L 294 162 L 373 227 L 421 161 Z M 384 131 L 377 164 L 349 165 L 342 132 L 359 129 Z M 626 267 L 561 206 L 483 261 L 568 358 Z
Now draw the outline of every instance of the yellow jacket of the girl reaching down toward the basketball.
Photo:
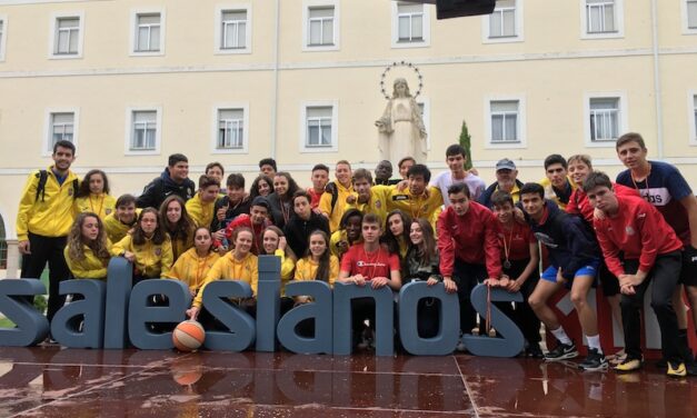
M 235 258 L 235 251 L 230 251 L 220 257 L 218 261 L 211 267 L 203 285 L 199 289 L 198 295 L 191 303 L 195 308 L 200 308 L 203 302 L 203 290 L 206 286 L 213 280 L 241 280 L 251 286 L 251 291 L 257 297 L 257 286 L 259 283 L 259 261 L 257 256 L 248 253 L 243 259 L 238 260 Z

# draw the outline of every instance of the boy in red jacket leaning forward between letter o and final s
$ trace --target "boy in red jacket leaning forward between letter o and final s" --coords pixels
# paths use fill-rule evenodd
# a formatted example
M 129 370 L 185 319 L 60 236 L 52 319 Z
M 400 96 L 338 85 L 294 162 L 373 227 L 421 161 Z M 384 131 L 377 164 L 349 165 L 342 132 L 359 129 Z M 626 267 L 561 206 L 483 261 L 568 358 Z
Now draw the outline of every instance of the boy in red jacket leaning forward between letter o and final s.
M 458 293 L 460 330 L 471 332 L 476 325 L 470 293 L 487 277 L 500 279 L 501 259 L 497 220 L 491 211 L 470 200 L 469 188 L 455 183 L 448 188 L 450 206 L 438 217 L 440 273 L 447 292 Z

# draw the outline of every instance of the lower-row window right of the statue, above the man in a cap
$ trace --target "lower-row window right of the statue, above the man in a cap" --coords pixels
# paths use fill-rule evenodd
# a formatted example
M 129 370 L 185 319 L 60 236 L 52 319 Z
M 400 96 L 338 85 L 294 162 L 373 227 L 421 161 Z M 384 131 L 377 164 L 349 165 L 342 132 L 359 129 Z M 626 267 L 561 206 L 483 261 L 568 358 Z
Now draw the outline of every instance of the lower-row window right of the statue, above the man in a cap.
M 487 97 L 485 107 L 485 148 L 527 147 L 524 96 Z

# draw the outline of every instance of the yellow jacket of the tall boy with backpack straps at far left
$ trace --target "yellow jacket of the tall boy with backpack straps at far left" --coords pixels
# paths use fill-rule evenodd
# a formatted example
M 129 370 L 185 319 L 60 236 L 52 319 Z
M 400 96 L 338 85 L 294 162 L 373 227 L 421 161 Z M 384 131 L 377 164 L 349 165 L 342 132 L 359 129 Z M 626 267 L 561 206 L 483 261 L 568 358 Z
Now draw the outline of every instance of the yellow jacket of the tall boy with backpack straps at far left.
M 51 167 L 47 170 L 46 188 L 43 199 L 37 199 L 37 188 L 39 187 L 39 170 L 29 175 L 29 179 L 22 190 L 17 211 L 17 239 L 26 241 L 29 232 L 44 237 L 66 237 L 72 226 L 73 180 L 78 176 L 68 171 L 62 185 L 58 183 Z

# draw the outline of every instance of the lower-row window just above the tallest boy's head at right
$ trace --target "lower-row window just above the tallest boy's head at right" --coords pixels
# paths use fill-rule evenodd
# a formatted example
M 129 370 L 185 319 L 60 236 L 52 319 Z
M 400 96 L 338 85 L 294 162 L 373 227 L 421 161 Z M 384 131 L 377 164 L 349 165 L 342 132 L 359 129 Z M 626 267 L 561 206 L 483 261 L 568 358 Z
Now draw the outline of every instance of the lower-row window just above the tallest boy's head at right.
M 624 92 L 586 94 L 585 136 L 587 147 L 615 147 L 627 129 L 627 98 Z

